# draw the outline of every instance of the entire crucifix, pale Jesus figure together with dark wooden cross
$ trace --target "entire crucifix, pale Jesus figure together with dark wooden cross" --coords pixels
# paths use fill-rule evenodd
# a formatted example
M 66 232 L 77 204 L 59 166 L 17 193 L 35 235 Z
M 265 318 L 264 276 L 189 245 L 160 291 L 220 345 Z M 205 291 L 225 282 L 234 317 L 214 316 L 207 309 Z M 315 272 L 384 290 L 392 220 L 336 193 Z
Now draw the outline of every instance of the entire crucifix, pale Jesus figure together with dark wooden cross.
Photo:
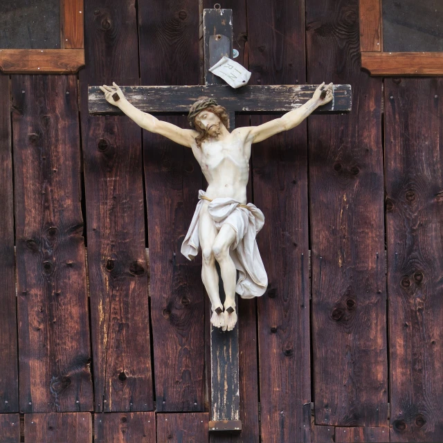
M 239 349 L 236 293 L 266 291 L 266 271 L 255 242 L 264 216 L 246 204 L 251 145 L 300 124 L 315 114 L 351 109 L 350 85 L 228 87 L 209 71 L 233 56 L 232 10 L 204 10 L 205 85 L 89 87 L 92 115 L 127 114 L 138 125 L 190 147 L 208 181 L 181 251 L 191 259 L 201 246 L 202 280 L 211 301 L 210 431 L 239 432 Z M 229 73 L 235 76 L 235 70 Z M 162 122 L 152 114 L 188 114 L 192 129 Z M 235 113 L 286 113 L 257 127 L 234 129 Z M 228 130 L 230 129 L 230 130 Z M 196 196 L 197 197 L 197 196 Z M 219 264 L 219 271 L 216 264 Z

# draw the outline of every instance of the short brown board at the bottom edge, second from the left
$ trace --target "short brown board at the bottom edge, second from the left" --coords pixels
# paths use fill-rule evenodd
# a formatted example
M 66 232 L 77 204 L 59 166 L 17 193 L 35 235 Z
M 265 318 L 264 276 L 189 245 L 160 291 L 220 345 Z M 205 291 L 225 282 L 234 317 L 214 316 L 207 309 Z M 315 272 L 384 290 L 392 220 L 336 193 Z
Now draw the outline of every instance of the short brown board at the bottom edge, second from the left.
M 91 414 L 26 414 L 25 442 L 92 443 Z

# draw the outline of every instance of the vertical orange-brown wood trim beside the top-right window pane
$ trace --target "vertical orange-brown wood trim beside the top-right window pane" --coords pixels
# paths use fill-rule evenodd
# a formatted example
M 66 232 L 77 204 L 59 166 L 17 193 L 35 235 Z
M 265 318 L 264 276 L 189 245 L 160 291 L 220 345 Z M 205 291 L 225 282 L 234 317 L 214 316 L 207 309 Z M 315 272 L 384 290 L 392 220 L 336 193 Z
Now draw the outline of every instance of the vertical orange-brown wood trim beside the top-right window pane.
M 381 0 L 360 0 L 360 51 L 383 51 Z

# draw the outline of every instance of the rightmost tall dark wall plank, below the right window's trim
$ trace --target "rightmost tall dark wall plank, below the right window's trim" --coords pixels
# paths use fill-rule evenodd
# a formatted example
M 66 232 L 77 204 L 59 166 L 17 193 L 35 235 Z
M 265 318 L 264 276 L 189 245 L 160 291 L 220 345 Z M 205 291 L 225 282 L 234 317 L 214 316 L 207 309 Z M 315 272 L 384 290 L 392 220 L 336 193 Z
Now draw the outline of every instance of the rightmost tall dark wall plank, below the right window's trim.
M 442 87 L 385 80 L 392 442 L 443 440 Z

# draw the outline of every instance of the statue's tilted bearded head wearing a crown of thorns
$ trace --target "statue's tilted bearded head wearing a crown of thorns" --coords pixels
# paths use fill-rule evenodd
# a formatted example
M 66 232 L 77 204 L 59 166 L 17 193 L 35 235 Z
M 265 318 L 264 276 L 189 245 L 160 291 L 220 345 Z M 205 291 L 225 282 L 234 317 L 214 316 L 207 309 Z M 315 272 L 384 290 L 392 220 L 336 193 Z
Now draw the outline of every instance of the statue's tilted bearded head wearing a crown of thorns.
M 188 121 L 199 135 L 195 138 L 198 147 L 201 147 L 206 139 L 217 138 L 221 131 L 221 125 L 229 129 L 229 117 L 226 109 L 217 105 L 213 98 L 198 100 L 192 105 Z

